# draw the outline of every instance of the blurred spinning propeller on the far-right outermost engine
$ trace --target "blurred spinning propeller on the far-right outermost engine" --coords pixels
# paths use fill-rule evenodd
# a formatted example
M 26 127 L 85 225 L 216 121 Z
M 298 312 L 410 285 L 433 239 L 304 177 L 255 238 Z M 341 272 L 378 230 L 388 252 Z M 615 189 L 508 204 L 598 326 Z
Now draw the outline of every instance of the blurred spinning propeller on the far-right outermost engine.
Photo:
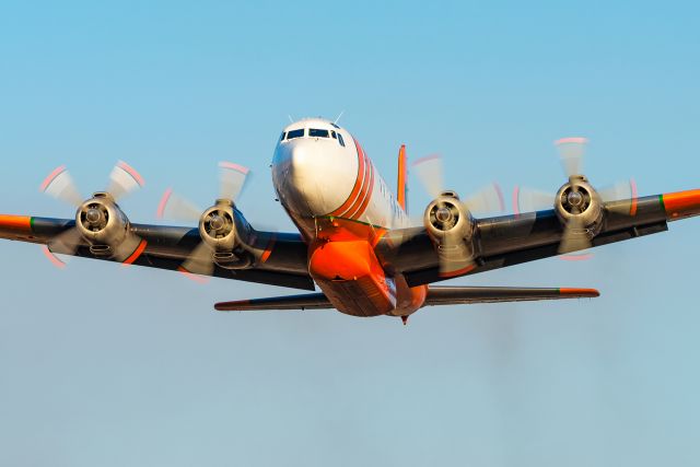
M 587 143 L 588 140 L 581 137 L 562 138 L 555 141 L 563 174 L 570 183 L 568 188 L 562 187 L 557 195 L 517 186 L 513 190 L 513 211 L 516 215 L 551 209 L 558 202 L 561 202 L 564 209 L 572 214 L 564 223 L 564 231 L 559 245 L 560 254 L 587 249 L 593 245 L 591 236 L 584 234 L 586 225 L 576 214 L 583 213 L 595 201 L 594 197 L 597 197 L 604 205 L 609 201 L 629 200 L 629 202 L 622 202 L 614 208 L 619 210 L 620 213 L 633 214 L 635 206 L 637 185 L 633 179 L 619 182 L 612 186 L 588 192 L 590 190 L 586 189 L 586 186 L 588 186 L 587 179 L 583 175 Z M 558 197 L 561 197 L 561 199 L 558 199 Z M 580 260 L 590 257 L 591 255 L 586 254 L 567 255 L 562 259 Z

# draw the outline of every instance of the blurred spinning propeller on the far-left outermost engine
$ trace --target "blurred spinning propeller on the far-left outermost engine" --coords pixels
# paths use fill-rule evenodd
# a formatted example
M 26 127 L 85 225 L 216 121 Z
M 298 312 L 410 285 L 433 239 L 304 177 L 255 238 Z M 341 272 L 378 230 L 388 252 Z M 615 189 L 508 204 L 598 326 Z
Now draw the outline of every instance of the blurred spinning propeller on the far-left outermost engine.
M 116 215 L 119 218 L 119 213 L 121 213 L 116 202 L 144 184 L 143 177 L 133 167 L 124 161 L 119 161 L 109 175 L 107 191 L 95 194 L 93 198 L 83 201 L 83 197 L 80 195 L 66 166 L 61 165 L 55 168 L 44 179 L 39 190 L 72 206 L 78 212 L 75 213 L 75 226 L 68 229 L 48 242 L 45 254 L 48 253 L 54 257 L 52 259 L 49 257 L 51 262 L 62 267 L 65 265 L 63 261 L 57 258 L 55 254 L 74 255 L 78 248 L 85 244 L 85 235 L 79 229 L 79 222 L 82 223 L 86 232 L 100 232 L 107 229 L 112 220 L 110 217 Z M 126 227 L 126 217 L 124 214 L 121 217 L 122 219 L 117 219 L 116 222 L 122 221 Z M 115 222 L 115 220 L 112 220 L 112 222 Z M 142 253 L 145 243 L 127 229 L 124 235 L 115 237 L 114 241 L 107 242 L 106 245 L 93 246 L 94 249 L 91 248 L 91 250 L 94 254 L 104 254 L 119 262 L 130 264 Z

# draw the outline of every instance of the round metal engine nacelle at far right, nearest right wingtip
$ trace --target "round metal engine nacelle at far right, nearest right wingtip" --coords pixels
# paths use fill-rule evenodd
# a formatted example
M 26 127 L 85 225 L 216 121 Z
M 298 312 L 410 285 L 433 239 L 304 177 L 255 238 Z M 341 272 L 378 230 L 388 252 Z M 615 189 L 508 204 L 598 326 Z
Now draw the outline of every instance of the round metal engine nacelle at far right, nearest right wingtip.
M 603 226 L 603 202 L 586 177 L 572 176 L 555 198 L 555 211 L 563 225 L 575 225 L 575 233 L 593 238 Z

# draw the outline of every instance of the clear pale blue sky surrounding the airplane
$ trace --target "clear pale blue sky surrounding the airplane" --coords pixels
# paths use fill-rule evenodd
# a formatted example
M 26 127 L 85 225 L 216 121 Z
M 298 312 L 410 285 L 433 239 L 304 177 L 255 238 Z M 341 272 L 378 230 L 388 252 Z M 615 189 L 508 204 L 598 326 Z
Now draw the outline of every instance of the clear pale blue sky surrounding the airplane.
M 552 141 L 591 140 L 597 185 L 700 185 L 696 2 L 65 1 L 0 4 L 0 212 L 70 218 L 126 160 L 153 222 L 202 206 L 217 163 L 241 208 L 291 230 L 269 167 L 288 115 L 335 118 L 387 180 L 398 147 L 468 194 L 556 190 Z M 509 197 L 510 198 L 510 197 Z M 428 198 L 410 194 L 413 212 Z M 456 284 L 595 287 L 580 302 L 221 314 L 293 293 L 0 242 L 3 466 L 691 466 L 700 458 L 700 220 Z

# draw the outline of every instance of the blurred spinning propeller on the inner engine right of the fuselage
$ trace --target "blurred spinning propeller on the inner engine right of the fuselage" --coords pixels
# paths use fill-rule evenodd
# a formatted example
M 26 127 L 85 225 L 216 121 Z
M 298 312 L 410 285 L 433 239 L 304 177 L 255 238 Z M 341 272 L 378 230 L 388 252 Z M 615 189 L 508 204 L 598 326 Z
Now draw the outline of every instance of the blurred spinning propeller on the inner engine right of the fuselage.
M 451 277 L 468 272 L 476 267 L 474 250 L 464 242 L 466 236 L 472 234 L 471 222 L 462 217 L 468 217 L 469 213 L 503 212 L 505 206 L 501 188 L 492 183 L 462 200 L 454 191 L 445 190 L 443 160 L 439 154 L 421 157 L 411 167 L 434 200 L 428 211 L 430 223 L 445 232 L 438 246 L 440 275 Z M 453 229 L 458 229 L 460 233 L 446 233 Z

